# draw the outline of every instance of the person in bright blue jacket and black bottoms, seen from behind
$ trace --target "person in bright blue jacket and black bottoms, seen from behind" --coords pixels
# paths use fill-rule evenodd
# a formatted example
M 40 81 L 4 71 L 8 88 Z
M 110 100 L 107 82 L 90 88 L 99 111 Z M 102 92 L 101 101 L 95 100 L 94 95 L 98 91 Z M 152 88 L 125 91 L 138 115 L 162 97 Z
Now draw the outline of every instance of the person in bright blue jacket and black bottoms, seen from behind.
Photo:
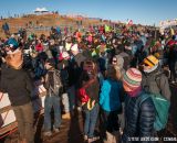
M 122 84 L 117 81 L 116 69 L 113 65 L 106 70 L 107 79 L 103 81 L 100 94 L 100 105 L 105 127 L 104 143 L 116 143 L 119 131 L 118 112 L 121 110 Z

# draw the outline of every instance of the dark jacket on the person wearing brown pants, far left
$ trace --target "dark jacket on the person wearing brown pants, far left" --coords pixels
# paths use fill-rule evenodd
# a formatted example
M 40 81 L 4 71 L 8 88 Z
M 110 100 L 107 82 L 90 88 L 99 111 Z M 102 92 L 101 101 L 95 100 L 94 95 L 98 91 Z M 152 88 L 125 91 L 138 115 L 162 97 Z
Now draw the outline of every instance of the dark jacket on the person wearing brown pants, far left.
M 23 106 L 31 101 L 33 85 L 27 72 L 1 67 L 0 91 L 8 92 L 12 106 Z

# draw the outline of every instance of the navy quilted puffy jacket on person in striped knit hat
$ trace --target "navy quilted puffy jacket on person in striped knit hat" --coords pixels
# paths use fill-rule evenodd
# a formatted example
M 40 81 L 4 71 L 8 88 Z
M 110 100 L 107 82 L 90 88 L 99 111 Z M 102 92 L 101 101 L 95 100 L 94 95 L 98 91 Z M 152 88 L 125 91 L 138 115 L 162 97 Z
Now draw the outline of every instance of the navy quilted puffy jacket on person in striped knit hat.
M 140 138 L 153 138 L 155 107 L 152 98 L 140 101 L 144 92 L 140 91 L 136 97 L 127 96 L 125 99 L 125 129 L 123 134 L 123 143 L 133 143 L 132 138 L 139 138 L 137 143 L 143 142 Z

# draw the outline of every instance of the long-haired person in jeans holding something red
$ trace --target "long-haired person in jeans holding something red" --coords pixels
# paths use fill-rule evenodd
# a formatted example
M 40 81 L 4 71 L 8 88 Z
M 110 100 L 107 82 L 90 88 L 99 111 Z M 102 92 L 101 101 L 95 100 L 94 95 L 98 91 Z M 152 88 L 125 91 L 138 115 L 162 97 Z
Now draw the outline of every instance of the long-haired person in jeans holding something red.
M 84 62 L 83 72 L 81 74 L 81 89 L 85 89 L 87 99 L 83 98 L 85 95 L 82 92 L 79 94 L 80 101 L 82 103 L 84 119 L 84 140 L 88 143 L 92 143 L 98 138 L 94 135 L 94 130 L 98 117 L 100 106 L 98 106 L 98 92 L 100 84 L 97 80 L 97 68 L 95 63 L 92 61 Z

